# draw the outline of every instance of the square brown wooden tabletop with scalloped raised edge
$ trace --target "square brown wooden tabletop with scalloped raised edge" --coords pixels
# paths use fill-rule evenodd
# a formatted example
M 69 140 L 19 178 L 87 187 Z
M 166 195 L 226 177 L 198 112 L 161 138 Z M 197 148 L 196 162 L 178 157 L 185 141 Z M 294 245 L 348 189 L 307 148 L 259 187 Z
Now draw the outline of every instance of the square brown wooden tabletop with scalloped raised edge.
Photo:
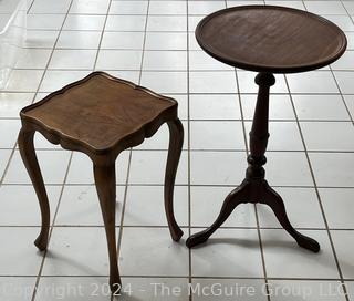
M 94 72 L 21 111 L 21 118 L 61 145 L 94 154 L 142 143 L 177 117 L 177 102 L 131 82 Z M 64 146 L 63 146 L 64 147 Z

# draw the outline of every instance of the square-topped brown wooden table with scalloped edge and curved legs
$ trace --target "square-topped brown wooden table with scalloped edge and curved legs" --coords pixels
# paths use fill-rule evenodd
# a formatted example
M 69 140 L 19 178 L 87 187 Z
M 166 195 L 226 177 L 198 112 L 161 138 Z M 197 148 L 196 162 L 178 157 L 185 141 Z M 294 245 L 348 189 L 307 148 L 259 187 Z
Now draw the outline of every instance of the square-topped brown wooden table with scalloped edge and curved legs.
M 121 278 L 115 233 L 115 160 L 122 150 L 140 144 L 146 137 L 153 136 L 163 123 L 167 123 L 170 143 L 165 177 L 165 209 L 171 238 L 175 241 L 180 239 L 183 231 L 174 215 L 174 186 L 184 128 L 177 117 L 177 106 L 173 98 L 106 73 L 94 72 L 21 111 L 19 147 L 41 206 L 42 228 L 35 240 L 40 250 L 48 247 L 50 206 L 33 147 L 35 131 L 53 144 L 91 157 L 107 237 L 110 286 L 112 292 L 117 293 Z

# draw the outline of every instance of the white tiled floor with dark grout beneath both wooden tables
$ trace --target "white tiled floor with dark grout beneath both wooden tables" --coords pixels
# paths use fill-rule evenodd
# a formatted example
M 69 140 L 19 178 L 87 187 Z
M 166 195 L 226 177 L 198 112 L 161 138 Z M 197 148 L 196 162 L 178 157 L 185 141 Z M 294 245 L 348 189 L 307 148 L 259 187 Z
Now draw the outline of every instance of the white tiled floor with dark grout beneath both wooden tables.
M 298 248 L 261 205 L 240 206 L 190 251 L 185 239 L 243 178 L 257 93 L 254 74 L 206 55 L 194 30 L 215 10 L 264 3 L 322 14 L 348 38 L 340 61 L 278 75 L 271 91 L 268 179 L 322 251 Z M 29 0 L 25 45 L 0 92 L 0 300 L 111 299 L 90 160 L 37 139 L 53 220 L 42 255 L 32 243 L 39 206 L 15 145 L 22 106 L 105 70 L 177 98 L 186 131 L 175 194 L 180 243 L 163 207 L 166 127 L 117 162 L 119 300 L 354 301 L 354 1 Z

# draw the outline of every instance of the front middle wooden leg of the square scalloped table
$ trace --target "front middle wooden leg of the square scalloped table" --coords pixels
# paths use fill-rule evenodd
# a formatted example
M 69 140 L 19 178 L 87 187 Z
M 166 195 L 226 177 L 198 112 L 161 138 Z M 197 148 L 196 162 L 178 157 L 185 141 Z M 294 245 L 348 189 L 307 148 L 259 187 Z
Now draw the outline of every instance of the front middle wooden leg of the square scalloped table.
M 94 165 L 94 177 L 100 199 L 103 221 L 106 230 L 108 255 L 110 255 L 110 286 L 112 292 L 117 293 L 121 288 L 121 277 L 117 261 L 117 247 L 115 235 L 115 206 L 116 184 L 115 165 Z

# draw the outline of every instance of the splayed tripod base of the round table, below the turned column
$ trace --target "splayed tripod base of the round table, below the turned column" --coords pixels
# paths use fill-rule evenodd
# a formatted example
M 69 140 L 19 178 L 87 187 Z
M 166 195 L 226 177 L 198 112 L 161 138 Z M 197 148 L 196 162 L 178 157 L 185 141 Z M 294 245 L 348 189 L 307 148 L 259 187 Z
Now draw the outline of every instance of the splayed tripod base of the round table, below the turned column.
M 313 252 L 320 251 L 320 245 L 314 239 L 298 232 L 290 224 L 284 203 L 263 178 L 244 179 L 242 184 L 232 190 L 223 201 L 217 220 L 206 230 L 190 236 L 186 245 L 192 248 L 206 242 L 209 237 L 228 219 L 233 209 L 242 203 L 266 204 L 275 214 L 281 226 L 296 240 L 298 245 Z

